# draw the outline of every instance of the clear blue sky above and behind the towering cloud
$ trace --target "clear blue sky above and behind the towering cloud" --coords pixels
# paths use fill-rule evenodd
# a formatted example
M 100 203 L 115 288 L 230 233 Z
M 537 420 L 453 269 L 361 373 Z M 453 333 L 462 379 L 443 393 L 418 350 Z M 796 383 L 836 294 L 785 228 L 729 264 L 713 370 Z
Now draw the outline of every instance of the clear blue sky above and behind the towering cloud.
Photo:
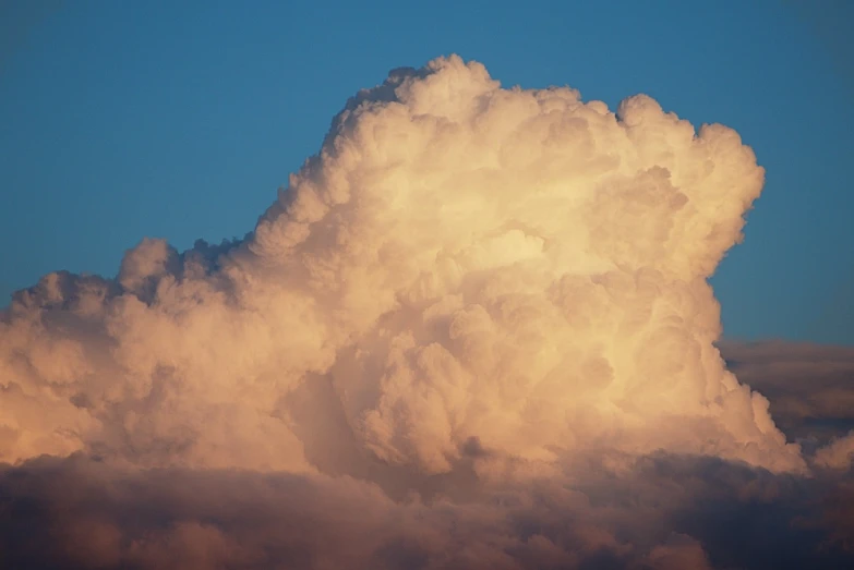
M 854 343 L 854 2 L 809 4 L 0 0 L 0 305 L 145 235 L 244 234 L 347 97 L 457 52 L 736 129 L 768 181 L 713 279 L 725 335 Z

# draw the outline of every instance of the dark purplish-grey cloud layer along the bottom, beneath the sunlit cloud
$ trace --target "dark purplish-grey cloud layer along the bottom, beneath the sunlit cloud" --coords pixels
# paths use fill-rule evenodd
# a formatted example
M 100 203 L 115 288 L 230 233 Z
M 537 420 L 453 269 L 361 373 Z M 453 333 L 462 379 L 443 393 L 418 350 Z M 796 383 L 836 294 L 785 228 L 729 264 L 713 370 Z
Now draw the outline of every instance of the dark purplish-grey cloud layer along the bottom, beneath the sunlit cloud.
M 613 459 L 613 458 L 611 458 Z M 845 568 L 851 481 L 713 458 L 603 458 L 562 478 L 394 501 L 371 483 L 122 471 L 81 456 L 0 474 L 3 568 Z

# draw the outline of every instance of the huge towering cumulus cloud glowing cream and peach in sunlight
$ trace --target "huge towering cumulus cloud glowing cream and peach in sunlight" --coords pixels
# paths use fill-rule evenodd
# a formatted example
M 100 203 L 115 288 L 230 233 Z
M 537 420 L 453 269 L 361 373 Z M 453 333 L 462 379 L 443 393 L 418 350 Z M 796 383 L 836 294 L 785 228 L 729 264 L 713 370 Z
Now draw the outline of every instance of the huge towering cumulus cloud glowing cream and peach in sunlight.
M 19 302 L 2 457 L 309 469 L 282 399 L 321 374 L 358 445 L 431 473 L 471 438 L 531 460 L 601 446 L 801 469 L 712 347 L 705 278 L 762 175 L 734 131 L 695 134 L 646 96 L 614 114 L 457 57 L 399 71 L 218 268 L 144 240 L 121 294 L 65 298 L 48 277 Z M 26 411 L 41 400 L 49 421 Z

